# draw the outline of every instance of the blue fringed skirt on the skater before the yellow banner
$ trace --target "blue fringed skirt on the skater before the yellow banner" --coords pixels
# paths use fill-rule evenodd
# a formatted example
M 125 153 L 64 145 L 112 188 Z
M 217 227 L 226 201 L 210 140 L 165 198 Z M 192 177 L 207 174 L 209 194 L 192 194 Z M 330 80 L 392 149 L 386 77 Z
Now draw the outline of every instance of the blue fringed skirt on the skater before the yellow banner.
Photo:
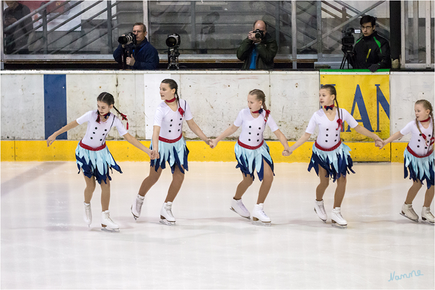
M 308 171 L 314 168 L 317 176 L 319 176 L 320 165 L 328 172 L 328 175 L 325 177 L 330 177 L 330 179 L 333 179 L 333 182 L 339 179 L 341 175 L 346 176 L 346 173 L 350 173 L 349 171 L 355 173 L 352 170 L 353 162 L 351 153 L 349 153 L 350 151 L 352 151 L 351 148 L 343 143 L 332 151 L 323 151 L 317 148 L 316 143 L 314 143 Z

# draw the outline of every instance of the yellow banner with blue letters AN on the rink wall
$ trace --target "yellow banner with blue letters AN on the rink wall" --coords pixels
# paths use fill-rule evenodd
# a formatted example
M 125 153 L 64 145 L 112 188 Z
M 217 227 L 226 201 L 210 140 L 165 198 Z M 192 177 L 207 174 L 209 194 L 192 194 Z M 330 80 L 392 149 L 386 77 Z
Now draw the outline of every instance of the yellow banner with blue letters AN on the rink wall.
M 382 139 L 389 137 L 389 75 L 331 75 L 320 73 L 320 85 L 332 84 L 337 101 L 357 120 L 359 125 Z M 345 124 L 344 141 L 372 141 Z

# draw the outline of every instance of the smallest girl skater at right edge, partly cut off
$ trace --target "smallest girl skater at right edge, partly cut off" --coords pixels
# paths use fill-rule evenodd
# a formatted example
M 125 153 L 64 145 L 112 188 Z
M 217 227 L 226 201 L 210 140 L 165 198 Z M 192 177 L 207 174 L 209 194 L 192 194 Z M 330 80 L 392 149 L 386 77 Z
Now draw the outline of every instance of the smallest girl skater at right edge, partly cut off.
M 406 134 L 411 133 L 411 140 L 408 143 L 405 151 L 403 152 L 405 178 L 408 176 L 412 179 L 411 188 L 408 190 L 405 203 L 402 206 L 401 215 L 419 221 L 419 216 L 412 209 L 412 200 L 417 195 L 417 192 L 426 182 L 427 190 L 424 197 L 423 209 L 421 211 L 421 218 L 423 222 L 434 225 L 433 215 L 430 212 L 430 204 L 433 199 L 433 108 L 429 101 L 419 100 L 415 104 L 416 121 L 409 122 L 402 130 L 394 133 L 387 140 L 384 145 L 402 138 Z M 382 146 L 382 147 L 383 147 Z

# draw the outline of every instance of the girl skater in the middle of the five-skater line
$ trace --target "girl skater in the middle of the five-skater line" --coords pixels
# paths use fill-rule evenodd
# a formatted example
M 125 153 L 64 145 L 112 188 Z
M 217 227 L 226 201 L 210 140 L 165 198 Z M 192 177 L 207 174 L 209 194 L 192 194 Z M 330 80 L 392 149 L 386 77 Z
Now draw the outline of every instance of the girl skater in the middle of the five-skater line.
M 262 108 L 263 106 L 263 108 Z M 242 203 L 242 196 L 254 181 L 254 170 L 257 171 L 258 179 L 262 181 L 258 192 L 257 204 L 252 211 L 254 225 L 270 226 L 271 220 L 263 210 L 263 205 L 273 181 L 273 161 L 269 153 L 269 146 L 264 141 L 263 132 L 266 124 L 275 133 L 279 142 L 284 146 L 282 155 L 289 156 L 289 144 L 287 138 L 279 130 L 270 110 L 266 107 L 266 96 L 263 91 L 252 90 L 248 94 L 248 108 L 238 113 L 234 124 L 226 129 L 219 137 L 212 140 L 210 147 L 216 147 L 222 139 L 232 135 L 242 126 L 242 132 L 234 146 L 237 159 L 236 168 L 242 171 L 243 180 L 238 184 L 235 195 L 231 200 L 230 210 L 250 219 L 250 213 Z M 248 176 L 249 174 L 249 176 Z

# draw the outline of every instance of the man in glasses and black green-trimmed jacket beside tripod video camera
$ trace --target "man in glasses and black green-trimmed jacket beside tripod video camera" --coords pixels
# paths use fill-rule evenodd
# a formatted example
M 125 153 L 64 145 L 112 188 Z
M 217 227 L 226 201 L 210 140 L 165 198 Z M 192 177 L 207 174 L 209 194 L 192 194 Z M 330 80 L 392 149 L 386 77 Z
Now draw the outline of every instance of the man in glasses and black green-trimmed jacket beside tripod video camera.
M 355 43 L 353 51 L 354 69 L 391 69 L 391 57 L 388 40 L 375 31 L 376 18 L 365 15 L 360 20 L 363 36 Z

